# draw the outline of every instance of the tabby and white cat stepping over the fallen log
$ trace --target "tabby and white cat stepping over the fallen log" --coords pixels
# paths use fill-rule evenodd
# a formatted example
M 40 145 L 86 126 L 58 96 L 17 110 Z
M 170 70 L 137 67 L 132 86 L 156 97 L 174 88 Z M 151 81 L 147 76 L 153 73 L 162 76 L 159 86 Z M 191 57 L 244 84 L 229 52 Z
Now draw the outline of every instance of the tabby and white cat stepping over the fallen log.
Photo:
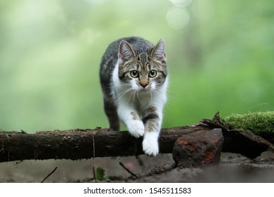
M 143 151 L 151 156 L 159 153 L 167 83 L 163 39 L 154 46 L 140 37 L 126 37 L 107 47 L 100 84 L 110 128 L 119 131 L 122 120 L 132 136 L 143 136 Z

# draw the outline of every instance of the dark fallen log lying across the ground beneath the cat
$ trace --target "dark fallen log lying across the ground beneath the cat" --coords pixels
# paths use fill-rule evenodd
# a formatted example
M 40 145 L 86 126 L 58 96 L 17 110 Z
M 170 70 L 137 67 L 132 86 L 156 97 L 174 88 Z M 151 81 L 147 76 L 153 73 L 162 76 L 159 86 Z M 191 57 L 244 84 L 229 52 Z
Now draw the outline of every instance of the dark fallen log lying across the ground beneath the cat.
M 208 122 L 207 122 L 208 123 Z M 194 126 L 162 129 L 159 136 L 159 152 L 172 153 L 174 142 L 179 137 L 220 128 L 220 125 L 200 122 Z M 263 151 L 274 150 L 272 144 L 249 132 L 229 132 L 223 129 L 222 151 L 242 153 L 254 158 Z M 0 163 L 13 160 L 88 159 L 141 155 L 142 137 L 134 138 L 128 132 L 113 132 L 109 129 L 71 129 L 65 131 L 0 132 Z M 94 147 L 94 148 L 93 148 Z

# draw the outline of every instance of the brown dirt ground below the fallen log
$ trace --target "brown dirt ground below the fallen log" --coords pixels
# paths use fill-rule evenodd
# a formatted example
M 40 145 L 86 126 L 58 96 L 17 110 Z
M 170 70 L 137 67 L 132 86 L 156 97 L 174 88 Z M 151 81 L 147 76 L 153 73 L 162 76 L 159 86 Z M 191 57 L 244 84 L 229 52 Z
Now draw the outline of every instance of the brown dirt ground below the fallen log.
M 0 182 L 41 182 L 56 167 L 56 171 L 44 182 L 274 182 L 273 159 L 273 155 L 267 152 L 254 160 L 235 153 L 222 153 L 219 165 L 176 168 L 162 174 L 151 172 L 173 164 L 171 154 L 157 155 L 155 158 L 141 155 L 139 159 L 24 160 L 0 163 Z M 119 165 L 120 162 L 138 179 Z M 93 163 L 96 168 L 105 170 L 102 181 L 93 180 Z

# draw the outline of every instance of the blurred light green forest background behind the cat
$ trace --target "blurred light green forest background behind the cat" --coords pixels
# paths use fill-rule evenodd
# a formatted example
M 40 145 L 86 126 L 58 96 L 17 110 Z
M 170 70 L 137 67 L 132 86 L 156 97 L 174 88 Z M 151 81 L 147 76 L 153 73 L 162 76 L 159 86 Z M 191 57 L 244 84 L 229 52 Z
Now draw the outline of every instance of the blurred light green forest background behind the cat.
M 0 128 L 107 127 L 100 59 L 128 36 L 166 42 L 163 127 L 274 110 L 271 0 L 0 1 Z

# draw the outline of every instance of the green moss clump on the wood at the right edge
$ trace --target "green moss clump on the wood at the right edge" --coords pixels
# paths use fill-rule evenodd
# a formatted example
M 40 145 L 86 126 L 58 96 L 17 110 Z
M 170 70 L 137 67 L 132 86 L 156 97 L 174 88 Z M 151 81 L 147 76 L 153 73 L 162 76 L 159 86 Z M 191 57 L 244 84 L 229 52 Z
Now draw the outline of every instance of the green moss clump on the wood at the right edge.
M 224 119 L 237 129 L 252 130 L 254 133 L 274 132 L 274 111 L 233 114 Z

